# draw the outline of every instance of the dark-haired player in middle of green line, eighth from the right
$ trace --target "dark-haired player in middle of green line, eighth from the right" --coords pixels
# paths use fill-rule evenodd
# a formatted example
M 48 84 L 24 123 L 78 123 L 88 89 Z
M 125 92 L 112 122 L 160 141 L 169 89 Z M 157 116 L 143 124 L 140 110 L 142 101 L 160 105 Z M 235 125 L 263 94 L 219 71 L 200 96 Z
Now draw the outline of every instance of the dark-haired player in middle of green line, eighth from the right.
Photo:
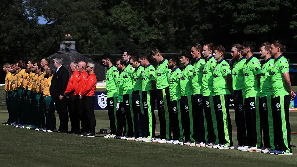
M 184 130 L 184 141 L 179 142 L 179 145 L 194 145 L 193 138 L 193 114 L 192 114 L 192 99 L 193 94 L 192 79 L 193 66 L 190 61 L 192 56 L 188 52 L 181 54 L 181 63 L 184 65 L 184 70 L 181 72 L 181 122 Z

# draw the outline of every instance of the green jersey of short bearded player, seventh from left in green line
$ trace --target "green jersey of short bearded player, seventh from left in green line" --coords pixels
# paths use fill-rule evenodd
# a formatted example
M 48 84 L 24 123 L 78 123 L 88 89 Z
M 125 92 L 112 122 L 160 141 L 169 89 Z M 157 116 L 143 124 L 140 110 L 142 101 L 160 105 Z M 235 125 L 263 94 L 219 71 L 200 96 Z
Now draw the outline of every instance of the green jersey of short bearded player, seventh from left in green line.
M 180 87 L 181 69 L 175 67 L 170 73 L 169 79 L 169 94 L 170 101 L 174 101 L 181 98 Z

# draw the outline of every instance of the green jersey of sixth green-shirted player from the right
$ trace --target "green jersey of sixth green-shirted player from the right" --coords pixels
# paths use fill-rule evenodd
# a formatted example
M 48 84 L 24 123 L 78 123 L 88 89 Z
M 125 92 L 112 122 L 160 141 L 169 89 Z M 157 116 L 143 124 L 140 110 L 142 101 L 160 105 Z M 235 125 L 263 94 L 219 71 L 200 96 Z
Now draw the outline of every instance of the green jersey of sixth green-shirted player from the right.
M 216 68 L 216 59 L 210 56 L 203 69 L 202 96 L 213 96 L 213 72 Z

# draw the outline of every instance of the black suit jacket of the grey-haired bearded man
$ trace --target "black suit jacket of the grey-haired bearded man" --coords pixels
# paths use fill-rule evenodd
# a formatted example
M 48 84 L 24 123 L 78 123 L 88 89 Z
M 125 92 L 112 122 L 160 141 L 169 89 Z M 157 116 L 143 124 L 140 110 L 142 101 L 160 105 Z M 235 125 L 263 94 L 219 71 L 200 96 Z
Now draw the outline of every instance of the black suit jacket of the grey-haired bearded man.
M 64 67 L 61 66 L 59 71 L 54 71 L 54 75 L 52 77 L 51 89 L 50 93 L 52 97 L 56 96 L 64 96 L 64 92 L 66 90 L 67 84 L 69 81 L 69 72 Z

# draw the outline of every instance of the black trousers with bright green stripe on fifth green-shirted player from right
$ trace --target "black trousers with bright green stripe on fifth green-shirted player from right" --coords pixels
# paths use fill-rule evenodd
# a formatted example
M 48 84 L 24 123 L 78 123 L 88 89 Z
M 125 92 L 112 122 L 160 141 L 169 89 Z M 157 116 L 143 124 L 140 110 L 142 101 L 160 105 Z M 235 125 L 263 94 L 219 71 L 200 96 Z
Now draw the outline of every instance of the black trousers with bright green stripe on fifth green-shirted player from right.
M 233 146 L 232 125 L 229 113 L 230 96 L 231 95 L 213 96 L 219 143 L 228 147 Z

